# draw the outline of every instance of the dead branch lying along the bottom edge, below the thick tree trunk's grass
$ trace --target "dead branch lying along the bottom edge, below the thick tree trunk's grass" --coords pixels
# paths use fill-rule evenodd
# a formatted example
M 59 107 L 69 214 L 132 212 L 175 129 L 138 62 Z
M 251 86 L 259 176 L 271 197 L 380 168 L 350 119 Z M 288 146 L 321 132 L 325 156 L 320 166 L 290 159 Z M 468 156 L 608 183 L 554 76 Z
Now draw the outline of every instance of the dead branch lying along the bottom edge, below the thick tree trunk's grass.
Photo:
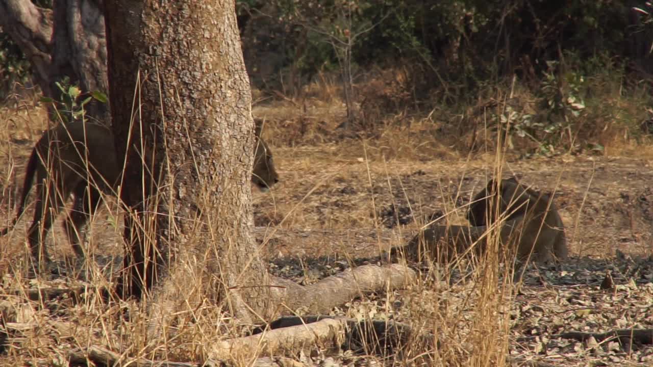
M 103 347 L 91 345 L 88 349 L 73 349 L 69 353 L 69 366 L 88 366 L 92 362 L 95 366 L 136 366 L 136 367 L 199 367 L 219 366 L 216 362 L 202 363 L 170 362 L 168 360 L 126 359 L 118 353 Z

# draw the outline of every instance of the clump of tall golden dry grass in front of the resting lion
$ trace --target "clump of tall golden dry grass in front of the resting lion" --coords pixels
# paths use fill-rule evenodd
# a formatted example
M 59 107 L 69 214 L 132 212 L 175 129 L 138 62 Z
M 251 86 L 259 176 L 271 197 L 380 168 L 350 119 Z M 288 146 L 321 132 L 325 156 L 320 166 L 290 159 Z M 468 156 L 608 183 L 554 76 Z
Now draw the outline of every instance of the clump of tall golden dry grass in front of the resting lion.
M 494 168 L 488 176 L 502 177 L 506 149 L 502 138 L 498 136 Z M 458 192 L 461 185 L 459 182 Z M 453 202 L 445 202 L 445 217 L 461 210 L 456 209 L 456 201 L 457 197 Z M 415 345 L 406 345 L 404 362 L 432 366 L 506 365 L 510 311 L 517 287 L 515 261 L 509 260 L 514 256 L 506 252 L 510 251 L 507 247 L 500 247 L 500 224 L 488 225 L 485 236 L 487 248 L 481 257 L 475 258 L 470 249 L 466 255 L 471 255 L 471 259 L 458 257 L 448 264 L 429 262 L 424 280 L 409 291 L 407 319 L 411 325 L 434 335 L 438 347 L 424 349 L 415 341 Z

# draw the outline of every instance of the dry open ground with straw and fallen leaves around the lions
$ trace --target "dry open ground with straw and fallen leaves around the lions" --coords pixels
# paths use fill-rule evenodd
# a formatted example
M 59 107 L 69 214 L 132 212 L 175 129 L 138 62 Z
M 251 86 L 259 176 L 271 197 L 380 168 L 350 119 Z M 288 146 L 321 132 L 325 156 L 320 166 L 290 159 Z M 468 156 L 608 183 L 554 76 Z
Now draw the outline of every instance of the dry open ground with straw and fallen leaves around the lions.
M 22 182 L 27 156 L 45 121 L 42 112 L 31 108 L 5 111 L 8 119 L 0 131 L 3 223 L 13 215 L 8 203 L 17 195 L 16 184 Z M 464 223 L 464 205 L 494 170 L 491 153 L 466 159 L 436 141 L 412 141 L 410 136 L 419 135 L 420 126 L 389 128 L 364 140 L 319 132 L 310 139 L 292 140 L 288 137 L 298 129 L 293 122 L 274 116 L 268 121 L 264 135 L 274 150 L 281 182 L 269 193 L 254 193 L 253 202 L 257 238 L 271 270 L 305 283 L 353 263 L 377 261 L 380 250 L 406 242 L 424 218 L 436 212 L 449 214 L 451 223 Z M 330 127 L 322 129 L 328 132 Z M 511 355 L 565 366 L 653 364 L 651 345 L 626 352 L 609 343 L 596 347 L 546 338 L 565 330 L 653 328 L 653 265 L 645 261 L 653 253 L 651 163 L 646 156 L 508 157 L 504 176 L 515 175 L 537 189 L 555 191 L 571 247 L 571 259 L 560 270 L 530 269 L 507 308 L 515 337 Z M 121 220 L 115 204 L 109 206 L 93 222 L 91 246 L 96 253 L 119 255 Z M 20 271 L 30 215 L 10 236 L 0 238 L 2 274 Z M 60 227 L 57 223 L 49 237 L 50 253 L 72 255 Z M 598 289 L 606 270 L 618 285 L 609 292 Z M 402 321 L 414 320 L 419 313 L 431 322 L 451 314 L 457 320 L 469 308 L 462 298 L 473 292 L 470 282 L 434 284 L 357 300 L 334 312 L 390 315 Z M 460 334 L 448 338 L 464 339 L 464 330 L 460 327 L 456 332 Z M 523 335 L 539 338 L 517 340 Z M 41 360 L 48 354 L 35 352 L 39 347 L 55 350 L 52 343 L 78 342 L 61 336 L 44 345 L 10 343 L 12 360 L 25 353 L 21 348 L 29 350 L 33 360 Z M 346 364 L 345 359 L 339 361 Z

